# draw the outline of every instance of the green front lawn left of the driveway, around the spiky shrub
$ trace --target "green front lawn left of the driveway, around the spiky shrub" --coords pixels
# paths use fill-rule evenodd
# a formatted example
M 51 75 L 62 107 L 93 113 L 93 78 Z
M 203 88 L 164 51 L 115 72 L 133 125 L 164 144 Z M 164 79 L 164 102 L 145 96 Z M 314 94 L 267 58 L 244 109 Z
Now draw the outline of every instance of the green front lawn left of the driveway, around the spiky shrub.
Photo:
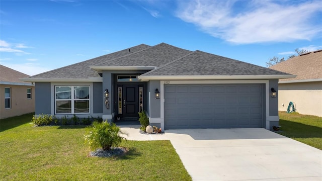
M 120 157 L 89 157 L 85 126 L 0 120 L 1 180 L 191 180 L 170 141 L 123 141 Z

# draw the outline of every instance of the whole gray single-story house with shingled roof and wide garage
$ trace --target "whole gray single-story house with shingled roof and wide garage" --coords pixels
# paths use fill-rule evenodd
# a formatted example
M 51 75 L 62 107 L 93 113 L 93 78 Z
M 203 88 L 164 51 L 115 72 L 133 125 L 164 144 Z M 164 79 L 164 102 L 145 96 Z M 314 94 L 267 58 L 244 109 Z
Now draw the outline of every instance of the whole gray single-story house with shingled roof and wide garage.
M 25 78 L 36 114 L 137 119 L 164 129 L 277 126 L 278 79 L 294 75 L 166 43 L 138 45 Z M 109 93 L 105 98 L 105 92 Z

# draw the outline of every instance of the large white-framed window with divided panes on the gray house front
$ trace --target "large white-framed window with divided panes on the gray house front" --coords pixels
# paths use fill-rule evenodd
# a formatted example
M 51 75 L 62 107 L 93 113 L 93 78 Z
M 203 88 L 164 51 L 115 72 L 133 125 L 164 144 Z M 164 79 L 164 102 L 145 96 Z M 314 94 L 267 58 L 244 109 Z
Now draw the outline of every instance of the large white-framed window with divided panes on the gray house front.
M 90 86 L 55 86 L 55 113 L 90 113 Z

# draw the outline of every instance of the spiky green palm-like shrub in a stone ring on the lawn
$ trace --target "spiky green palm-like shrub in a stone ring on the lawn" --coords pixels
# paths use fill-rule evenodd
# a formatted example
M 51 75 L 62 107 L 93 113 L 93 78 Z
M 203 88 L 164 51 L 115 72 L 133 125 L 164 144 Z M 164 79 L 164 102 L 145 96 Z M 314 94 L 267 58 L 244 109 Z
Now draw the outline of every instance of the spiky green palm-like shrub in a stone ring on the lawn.
M 84 135 L 84 138 L 85 142 L 87 142 L 93 150 L 102 148 L 106 151 L 110 150 L 112 146 L 119 146 L 123 139 L 126 140 L 126 138 L 120 136 L 121 134 L 124 133 L 122 133 L 121 129 L 114 123 L 110 124 L 107 121 L 100 123 L 94 121 L 93 126 L 88 127 L 88 133 Z

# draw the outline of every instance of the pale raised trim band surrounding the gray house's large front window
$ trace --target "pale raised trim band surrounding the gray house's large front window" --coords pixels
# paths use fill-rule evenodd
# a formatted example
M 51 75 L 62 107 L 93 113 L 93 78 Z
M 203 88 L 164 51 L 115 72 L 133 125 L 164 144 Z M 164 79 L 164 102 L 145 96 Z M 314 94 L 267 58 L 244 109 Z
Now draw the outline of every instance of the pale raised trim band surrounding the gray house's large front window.
M 55 103 L 55 86 L 89 86 L 90 89 L 90 112 L 89 113 L 75 113 L 75 115 L 92 115 L 93 113 L 93 82 L 51 82 L 51 115 L 73 115 L 74 113 L 58 113 L 56 114 Z M 73 102 L 71 103 L 73 105 Z M 73 112 L 73 111 L 72 111 Z

